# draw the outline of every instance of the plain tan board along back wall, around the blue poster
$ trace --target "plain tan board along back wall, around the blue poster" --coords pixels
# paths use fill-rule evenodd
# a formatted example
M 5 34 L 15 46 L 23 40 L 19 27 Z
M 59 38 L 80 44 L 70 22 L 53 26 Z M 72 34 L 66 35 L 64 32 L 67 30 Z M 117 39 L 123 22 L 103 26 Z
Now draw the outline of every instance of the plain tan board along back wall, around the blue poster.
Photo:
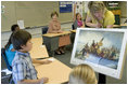
M 1 31 L 10 31 L 17 20 L 24 20 L 25 27 L 46 26 L 51 19 L 51 12 L 59 13 L 59 1 L 2 1 L 5 8 L 1 15 Z M 72 13 L 59 13 L 61 23 L 73 22 Z

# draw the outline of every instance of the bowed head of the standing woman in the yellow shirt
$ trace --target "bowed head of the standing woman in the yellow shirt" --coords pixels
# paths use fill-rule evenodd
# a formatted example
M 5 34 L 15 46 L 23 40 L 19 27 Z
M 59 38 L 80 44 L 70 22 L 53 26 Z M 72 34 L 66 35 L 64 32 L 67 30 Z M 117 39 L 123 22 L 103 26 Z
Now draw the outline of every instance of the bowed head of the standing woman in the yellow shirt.
M 104 13 L 107 11 L 102 1 L 90 1 L 88 8 L 91 15 L 99 20 L 104 17 Z

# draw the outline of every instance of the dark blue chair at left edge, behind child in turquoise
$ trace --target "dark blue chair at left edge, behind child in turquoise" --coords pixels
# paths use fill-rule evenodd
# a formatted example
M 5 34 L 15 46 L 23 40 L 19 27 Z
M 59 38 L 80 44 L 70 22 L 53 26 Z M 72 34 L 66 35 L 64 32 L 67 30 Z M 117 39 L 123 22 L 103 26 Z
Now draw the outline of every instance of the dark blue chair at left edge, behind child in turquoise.
M 5 65 L 8 67 L 8 70 L 12 71 L 12 67 L 9 65 L 8 59 L 7 59 L 5 48 L 1 48 L 1 56 L 2 56 L 2 58 L 5 61 Z M 12 80 L 12 74 L 11 74 L 9 81 L 10 81 L 10 84 L 13 84 L 14 83 L 13 80 Z

